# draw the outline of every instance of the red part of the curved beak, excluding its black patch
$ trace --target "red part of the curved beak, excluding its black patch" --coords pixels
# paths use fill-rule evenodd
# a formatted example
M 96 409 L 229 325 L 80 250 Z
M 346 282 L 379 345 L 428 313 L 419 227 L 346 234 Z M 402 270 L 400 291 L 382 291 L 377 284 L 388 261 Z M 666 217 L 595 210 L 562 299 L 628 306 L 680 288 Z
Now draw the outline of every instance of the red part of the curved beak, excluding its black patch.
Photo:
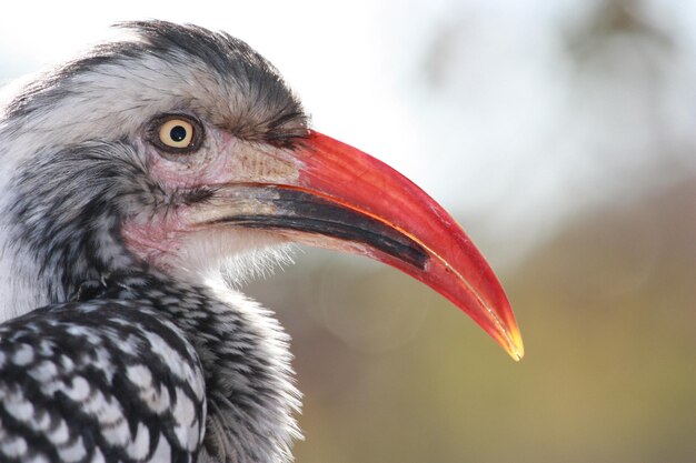
M 357 252 L 426 283 L 469 314 L 513 359 L 523 358 L 519 328 L 503 286 L 461 227 L 435 200 L 384 162 L 321 133 L 311 131 L 295 153 L 304 168 L 298 184 L 288 188 L 371 218 L 419 251 L 405 249 L 399 254 L 368 242 Z

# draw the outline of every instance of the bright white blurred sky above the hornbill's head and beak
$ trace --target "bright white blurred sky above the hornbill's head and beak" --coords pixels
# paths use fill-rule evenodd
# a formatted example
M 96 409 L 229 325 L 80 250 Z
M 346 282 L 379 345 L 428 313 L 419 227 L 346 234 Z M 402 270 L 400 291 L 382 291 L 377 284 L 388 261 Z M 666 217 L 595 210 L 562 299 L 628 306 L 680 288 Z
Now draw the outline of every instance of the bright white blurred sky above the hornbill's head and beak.
M 274 62 L 317 130 L 405 173 L 494 263 L 505 262 L 584 209 L 674 181 L 664 167 L 694 172 L 696 154 L 660 158 L 662 141 L 646 128 L 659 118 L 677 151 L 696 147 L 696 2 L 643 3 L 640 13 L 669 34 L 668 56 L 654 42 L 614 38 L 589 59 L 598 72 L 583 73 L 564 31 L 596 4 L 11 1 L 0 17 L 0 83 L 72 57 L 122 20 L 225 30 Z M 655 88 L 657 97 L 647 94 Z

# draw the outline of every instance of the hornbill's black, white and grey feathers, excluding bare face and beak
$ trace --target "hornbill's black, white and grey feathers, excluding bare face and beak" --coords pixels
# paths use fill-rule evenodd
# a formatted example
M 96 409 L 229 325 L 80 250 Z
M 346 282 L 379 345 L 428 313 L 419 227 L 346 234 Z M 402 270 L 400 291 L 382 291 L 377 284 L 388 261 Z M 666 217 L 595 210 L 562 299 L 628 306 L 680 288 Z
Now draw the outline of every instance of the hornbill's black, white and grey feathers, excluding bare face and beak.
M 290 461 L 300 405 L 288 339 L 222 284 L 215 256 L 230 250 L 183 243 L 200 248 L 179 250 L 173 274 L 121 231 L 211 194 L 152 177 L 147 121 L 192 114 L 210 133 L 277 145 L 306 130 L 305 113 L 239 40 L 123 28 L 129 39 L 0 108 L 0 461 Z M 240 232 L 219 245 L 276 244 Z

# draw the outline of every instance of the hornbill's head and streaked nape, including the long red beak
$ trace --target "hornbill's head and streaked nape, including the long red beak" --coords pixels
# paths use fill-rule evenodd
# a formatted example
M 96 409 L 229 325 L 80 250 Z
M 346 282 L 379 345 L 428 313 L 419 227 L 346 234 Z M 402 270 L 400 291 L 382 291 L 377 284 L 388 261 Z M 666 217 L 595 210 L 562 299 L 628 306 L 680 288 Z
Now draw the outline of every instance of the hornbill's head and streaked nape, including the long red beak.
M 310 129 L 268 61 L 191 26 L 123 28 L 131 38 L 36 79 L 0 113 L 12 310 L 113 271 L 199 279 L 301 242 L 406 272 L 521 358 L 500 283 L 457 222 L 394 169 Z

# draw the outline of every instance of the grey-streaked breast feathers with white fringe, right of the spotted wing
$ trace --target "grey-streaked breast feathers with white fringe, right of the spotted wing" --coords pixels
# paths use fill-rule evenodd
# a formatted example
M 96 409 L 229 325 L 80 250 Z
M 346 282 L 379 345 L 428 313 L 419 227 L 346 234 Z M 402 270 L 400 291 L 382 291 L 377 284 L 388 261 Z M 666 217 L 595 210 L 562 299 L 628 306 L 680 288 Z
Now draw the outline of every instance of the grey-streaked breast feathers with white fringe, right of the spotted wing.
M 288 336 L 271 313 L 218 284 L 157 271 L 86 282 L 77 298 L 148 300 L 181 329 L 206 374 L 208 417 L 199 462 L 284 463 L 299 437 Z

